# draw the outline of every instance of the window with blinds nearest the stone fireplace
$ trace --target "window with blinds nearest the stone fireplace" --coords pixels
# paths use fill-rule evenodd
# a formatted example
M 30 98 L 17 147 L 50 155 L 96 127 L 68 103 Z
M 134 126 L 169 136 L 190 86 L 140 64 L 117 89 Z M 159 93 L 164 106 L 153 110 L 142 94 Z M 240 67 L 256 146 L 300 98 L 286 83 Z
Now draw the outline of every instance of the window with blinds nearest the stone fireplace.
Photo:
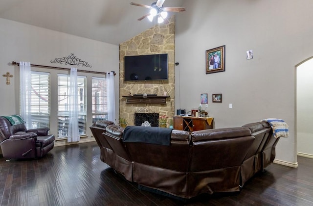
M 92 122 L 108 120 L 107 81 L 92 77 Z

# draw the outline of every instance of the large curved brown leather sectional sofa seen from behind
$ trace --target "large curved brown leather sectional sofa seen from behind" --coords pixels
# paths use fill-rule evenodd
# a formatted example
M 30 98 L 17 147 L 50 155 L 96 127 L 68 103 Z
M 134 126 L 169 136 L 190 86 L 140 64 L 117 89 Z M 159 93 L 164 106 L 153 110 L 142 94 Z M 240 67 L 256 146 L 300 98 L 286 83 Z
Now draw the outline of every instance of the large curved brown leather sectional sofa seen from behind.
M 194 132 L 173 129 L 169 145 L 124 142 L 124 128 L 110 121 L 98 121 L 90 129 L 101 160 L 126 180 L 183 199 L 240 191 L 274 160 L 279 140 L 266 122 Z M 157 131 L 146 132 L 150 138 Z

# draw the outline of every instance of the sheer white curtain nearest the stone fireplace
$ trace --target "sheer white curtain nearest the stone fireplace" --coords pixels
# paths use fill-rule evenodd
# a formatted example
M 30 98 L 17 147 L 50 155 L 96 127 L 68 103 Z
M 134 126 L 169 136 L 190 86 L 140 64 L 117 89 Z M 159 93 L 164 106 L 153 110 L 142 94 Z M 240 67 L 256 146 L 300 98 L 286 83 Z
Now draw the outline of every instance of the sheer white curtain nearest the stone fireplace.
M 114 72 L 107 73 L 108 120 L 115 123 Z

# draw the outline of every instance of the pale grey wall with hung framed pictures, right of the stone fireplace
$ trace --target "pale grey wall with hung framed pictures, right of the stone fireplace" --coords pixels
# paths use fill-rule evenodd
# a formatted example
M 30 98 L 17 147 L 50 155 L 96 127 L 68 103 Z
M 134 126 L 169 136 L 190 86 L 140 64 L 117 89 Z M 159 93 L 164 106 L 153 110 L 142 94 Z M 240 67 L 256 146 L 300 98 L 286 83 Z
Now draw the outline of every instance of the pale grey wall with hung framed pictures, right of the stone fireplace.
M 210 100 L 222 93 L 223 103 L 210 101 L 207 109 L 215 128 L 283 119 L 290 137 L 278 142 L 276 159 L 296 165 L 295 65 L 313 55 L 313 1 L 192 0 L 183 6 L 186 12 L 176 16 L 175 53 L 181 108 L 197 108 L 201 93 Z M 222 45 L 225 72 L 205 75 L 205 51 Z M 247 50 L 253 59 L 246 60 Z M 178 90 L 175 96 L 178 108 Z

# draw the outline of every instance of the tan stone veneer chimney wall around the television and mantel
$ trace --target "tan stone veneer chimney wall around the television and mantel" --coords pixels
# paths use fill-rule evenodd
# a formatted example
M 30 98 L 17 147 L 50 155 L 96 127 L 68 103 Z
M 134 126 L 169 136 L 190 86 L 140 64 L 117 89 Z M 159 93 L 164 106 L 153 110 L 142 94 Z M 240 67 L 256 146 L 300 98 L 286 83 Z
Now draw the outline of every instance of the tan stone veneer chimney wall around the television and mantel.
M 168 53 L 168 80 L 124 81 L 124 56 Z M 128 120 L 128 125 L 134 125 L 134 113 L 147 111 L 174 115 L 174 61 L 175 61 L 175 16 L 169 24 L 156 24 L 154 27 L 138 34 L 132 39 L 120 44 L 120 97 L 119 115 Z M 156 94 L 170 96 L 166 104 L 126 104 L 125 98 L 134 94 Z

